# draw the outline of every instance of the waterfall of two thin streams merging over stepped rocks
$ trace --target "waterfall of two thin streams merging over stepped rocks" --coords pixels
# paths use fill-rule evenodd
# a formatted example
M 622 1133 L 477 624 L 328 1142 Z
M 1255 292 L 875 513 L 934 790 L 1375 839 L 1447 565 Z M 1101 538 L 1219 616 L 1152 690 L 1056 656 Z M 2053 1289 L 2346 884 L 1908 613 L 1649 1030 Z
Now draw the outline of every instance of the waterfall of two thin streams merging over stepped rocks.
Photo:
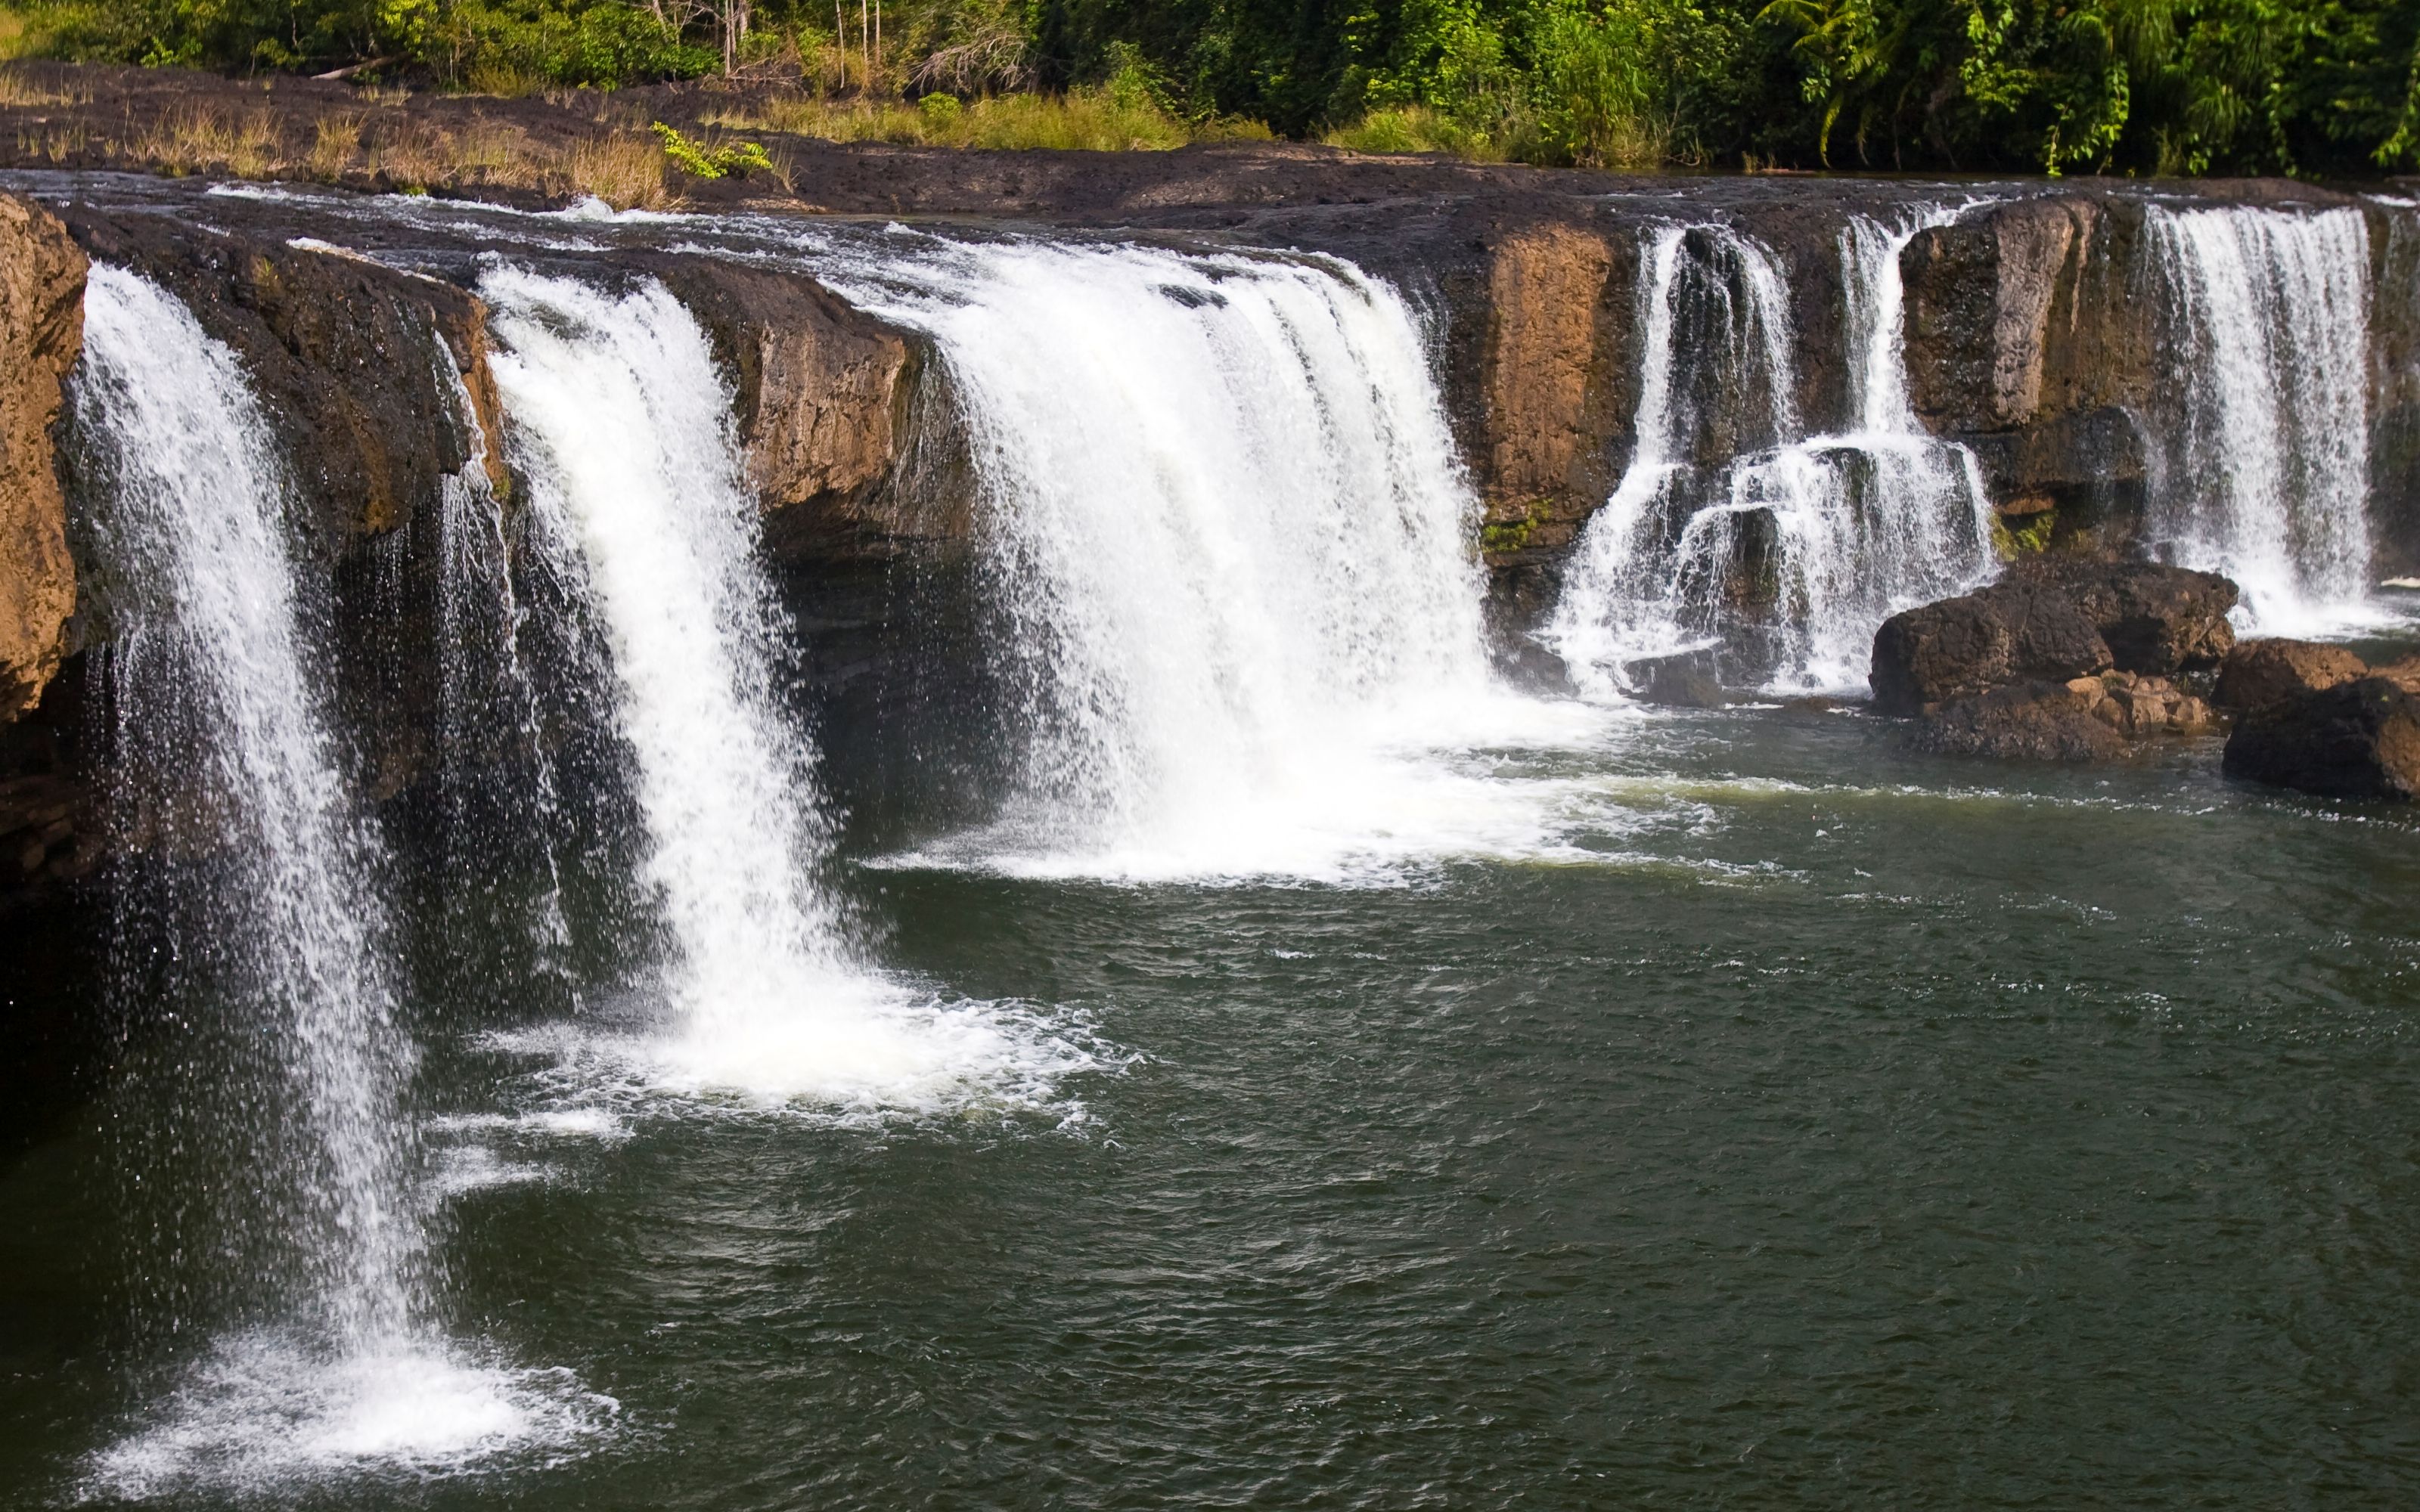
M 1992 571 L 1972 455 L 1907 402 L 1900 252 L 1951 210 L 1842 232 L 1854 428 L 1805 435 L 1788 290 L 1718 225 L 1643 247 L 1631 462 L 1590 518 L 1544 639 L 1602 692 L 1624 663 L 1730 646 L 1776 689 L 1861 687 L 1876 627 Z

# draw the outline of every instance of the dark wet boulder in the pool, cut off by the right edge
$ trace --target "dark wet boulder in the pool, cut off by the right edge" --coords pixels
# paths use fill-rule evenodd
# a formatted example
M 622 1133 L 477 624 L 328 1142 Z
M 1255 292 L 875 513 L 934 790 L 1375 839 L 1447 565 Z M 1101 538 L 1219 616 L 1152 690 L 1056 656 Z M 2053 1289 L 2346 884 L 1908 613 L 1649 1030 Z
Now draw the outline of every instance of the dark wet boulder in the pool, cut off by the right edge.
M 2420 694 L 2357 677 L 2270 704 L 2236 723 L 2226 774 L 2328 798 L 2420 798 Z

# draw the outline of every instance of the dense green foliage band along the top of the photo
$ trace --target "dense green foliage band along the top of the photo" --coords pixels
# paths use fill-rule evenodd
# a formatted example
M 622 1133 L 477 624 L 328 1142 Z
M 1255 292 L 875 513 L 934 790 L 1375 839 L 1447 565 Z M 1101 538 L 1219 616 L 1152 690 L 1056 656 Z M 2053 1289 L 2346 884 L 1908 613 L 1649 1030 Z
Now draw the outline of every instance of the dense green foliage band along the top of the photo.
M 131 63 L 876 99 L 1113 82 L 1171 119 L 1529 162 L 2420 167 L 2420 0 L 17 2 L 29 46 Z

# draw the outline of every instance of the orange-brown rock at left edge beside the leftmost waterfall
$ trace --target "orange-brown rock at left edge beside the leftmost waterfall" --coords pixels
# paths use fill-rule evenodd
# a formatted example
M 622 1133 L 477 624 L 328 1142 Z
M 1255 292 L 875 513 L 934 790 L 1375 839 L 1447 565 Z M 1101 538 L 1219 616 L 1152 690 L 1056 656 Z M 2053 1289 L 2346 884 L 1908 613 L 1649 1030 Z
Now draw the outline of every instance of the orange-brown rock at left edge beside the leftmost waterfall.
M 0 723 L 41 699 L 75 614 L 51 426 L 82 344 L 85 254 L 58 218 L 0 196 Z

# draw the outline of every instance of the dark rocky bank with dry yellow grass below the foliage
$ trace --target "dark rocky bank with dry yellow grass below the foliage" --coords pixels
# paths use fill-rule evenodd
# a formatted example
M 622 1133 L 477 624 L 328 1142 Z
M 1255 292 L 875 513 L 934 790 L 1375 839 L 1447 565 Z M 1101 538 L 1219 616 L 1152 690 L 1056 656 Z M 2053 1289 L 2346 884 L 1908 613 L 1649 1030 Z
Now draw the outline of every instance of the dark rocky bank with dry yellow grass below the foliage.
M 1379 203 L 1437 194 L 1602 194 L 1602 174 L 1365 157 L 1297 143 L 1176 152 L 985 152 L 726 131 L 750 94 L 716 82 L 496 99 L 230 80 L 186 70 L 17 63 L 0 70 L 0 167 L 133 169 L 419 189 L 501 203 L 598 194 L 617 206 L 835 215 L 1135 220 L 1188 208 Z M 760 140 L 774 172 L 697 179 L 656 135 Z

